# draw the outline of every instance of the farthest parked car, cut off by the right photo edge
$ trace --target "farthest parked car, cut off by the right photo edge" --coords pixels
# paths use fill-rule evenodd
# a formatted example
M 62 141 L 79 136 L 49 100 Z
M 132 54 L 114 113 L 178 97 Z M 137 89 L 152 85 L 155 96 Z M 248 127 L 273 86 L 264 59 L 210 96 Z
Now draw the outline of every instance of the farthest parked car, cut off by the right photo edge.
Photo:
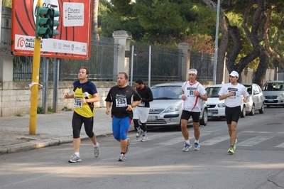
M 264 105 L 284 107 L 284 81 L 268 81 L 262 87 Z

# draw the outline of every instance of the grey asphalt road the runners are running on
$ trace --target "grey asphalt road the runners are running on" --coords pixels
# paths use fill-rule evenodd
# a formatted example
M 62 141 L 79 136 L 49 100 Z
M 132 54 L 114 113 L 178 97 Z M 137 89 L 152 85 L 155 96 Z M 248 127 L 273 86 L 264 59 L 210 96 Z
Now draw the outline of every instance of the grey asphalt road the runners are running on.
M 82 141 L 81 163 L 67 163 L 72 144 L 8 153 L 0 156 L 0 188 L 284 188 L 283 117 L 273 107 L 239 119 L 234 155 L 224 119 L 200 127 L 200 151 L 182 152 L 180 131 L 151 129 L 147 142 L 129 134 L 124 162 L 112 136 L 98 138 L 99 158 Z

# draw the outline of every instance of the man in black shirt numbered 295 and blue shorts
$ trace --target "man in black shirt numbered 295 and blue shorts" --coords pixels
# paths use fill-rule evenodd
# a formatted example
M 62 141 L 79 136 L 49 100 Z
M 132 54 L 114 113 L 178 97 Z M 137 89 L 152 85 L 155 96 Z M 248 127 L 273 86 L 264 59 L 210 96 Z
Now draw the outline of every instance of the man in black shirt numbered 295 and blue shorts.
M 111 112 L 114 139 L 120 142 L 119 161 L 126 161 L 125 153 L 129 151 L 130 144 L 127 134 L 133 119 L 132 109 L 141 102 L 141 97 L 136 89 L 127 85 L 128 79 L 129 76 L 126 72 L 119 72 L 117 85 L 111 87 L 105 99 L 107 102 L 106 114 Z

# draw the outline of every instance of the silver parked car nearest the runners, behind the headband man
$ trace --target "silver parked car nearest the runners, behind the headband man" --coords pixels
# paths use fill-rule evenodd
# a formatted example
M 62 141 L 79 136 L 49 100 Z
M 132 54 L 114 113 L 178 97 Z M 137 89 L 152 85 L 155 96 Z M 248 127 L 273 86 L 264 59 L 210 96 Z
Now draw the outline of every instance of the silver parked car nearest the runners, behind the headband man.
M 182 114 L 183 100 L 182 95 L 183 82 L 168 82 L 151 87 L 153 101 L 150 102 L 150 111 L 147 126 L 180 126 L 180 117 Z M 201 100 L 202 111 L 200 113 L 200 125 L 207 125 L 207 107 Z M 188 123 L 191 123 L 190 118 Z

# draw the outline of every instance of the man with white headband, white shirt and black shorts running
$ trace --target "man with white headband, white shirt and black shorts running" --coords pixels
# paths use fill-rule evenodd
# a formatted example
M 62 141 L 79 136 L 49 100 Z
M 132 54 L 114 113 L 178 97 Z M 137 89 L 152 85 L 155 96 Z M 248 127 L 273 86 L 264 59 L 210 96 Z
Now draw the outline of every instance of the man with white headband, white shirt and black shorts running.
M 182 84 L 182 116 L 180 117 L 180 126 L 182 130 L 182 136 L 185 139 L 185 146 L 182 151 L 188 151 L 192 148 L 190 144 L 190 134 L 187 130 L 187 121 L 192 117 L 193 129 L 195 135 L 195 151 L 200 150 L 200 112 L 201 99 L 207 101 L 206 91 L 204 87 L 197 82 L 197 70 L 190 69 L 188 72 L 188 81 Z

